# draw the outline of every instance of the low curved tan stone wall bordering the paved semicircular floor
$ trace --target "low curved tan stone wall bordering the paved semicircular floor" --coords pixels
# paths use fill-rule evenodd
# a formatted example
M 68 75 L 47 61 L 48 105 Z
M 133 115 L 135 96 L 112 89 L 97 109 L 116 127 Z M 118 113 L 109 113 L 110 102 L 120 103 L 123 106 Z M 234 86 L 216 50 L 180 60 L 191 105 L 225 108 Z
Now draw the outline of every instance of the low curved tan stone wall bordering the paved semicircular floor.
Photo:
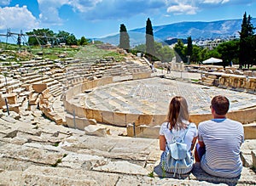
M 137 78 L 144 78 L 146 75 L 140 73 L 134 75 Z M 91 88 L 106 85 L 113 83 L 113 77 L 108 76 L 102 79 L 97 79 L 89 82 L 84 82 L 80 85 L 70 88 L 67 90 L 64 99 L 64 106 L 67 112 L 71 115 L 74 115 L 73 120 L 76 120 L 76 117 L 86 119 L 95 119 L 97 122 L 112 124 L 119 127 L 127 127 L 127 135 L 134 136 L 134 130 L 137 132 L 137 136 L 149 137 L 153 134 L 150 134 L 150 130 L 155 133 L 155 130 L 158 130 L 156 126 L 160 126 L 160 124 L 166 120 L 166 115 L 137 115 L 137 114 L 128 114 L 121 112 L 113 112 L 113 111 L 105 111 L 105 110 L 92 110 L 81 106 L 79 102 L 73 102 L 73 96 L 83 93 L 85 90 L 90 90 Z M 250 123 L 255 121 L 256 118 L 256 108 L 250 108 L 246 110 L 236 110 L 231 111 L 228 114 L 230 119 L 240 121 L 243 124 Z M 197 114 L 191 115 L 190 120 L 195 122 L 197 125 L 201 121 L 206 121 L 212 118 L 211 114 Z M 73 126 L 73 122 L 80 122 L 68 120 L 72 123 L 67 123 L 68 126 Z M 133 124 L 134 123 L 134 124 Z M 132 125 L 129 125 L 132 124 Z M 148 126 L 148 127 L 145 127 Z M 133 128 L 135 127 L 135 128 Z M 151 129 L 150 129 L 151 128 Z M 255 127 L 247 127 L 247 130 L 251 130 L 252 132 L 256 132 Z M 252 133 L 251 132 L 251 133 Z M 256 138 L 254 136 L 247 135 L 247 138 Z

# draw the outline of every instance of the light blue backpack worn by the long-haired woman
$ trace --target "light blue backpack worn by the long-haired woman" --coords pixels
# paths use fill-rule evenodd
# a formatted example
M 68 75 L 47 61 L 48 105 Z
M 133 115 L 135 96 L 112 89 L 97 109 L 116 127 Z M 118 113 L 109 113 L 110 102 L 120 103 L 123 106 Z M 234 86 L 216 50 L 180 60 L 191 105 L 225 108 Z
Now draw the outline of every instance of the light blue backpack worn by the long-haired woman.
M 184 144 L 184 138 L 188 130 L 189 127 L 184 132 L 184 135 L 181 138 L 180 142 L 177 142 L 177 138 L 174 137 L 171 130 L 174 142 L 172 144 L 166 144 L 167 149 L 161 155 L 160 164 L 162 166 L 162 169 L 166 172 L 173 172 L 173 177 L 175 177 L 176 173 L 188 173 L 193 168 L 193 156 L 191 155 L 190 150 L 187 150 L 187 144 Z

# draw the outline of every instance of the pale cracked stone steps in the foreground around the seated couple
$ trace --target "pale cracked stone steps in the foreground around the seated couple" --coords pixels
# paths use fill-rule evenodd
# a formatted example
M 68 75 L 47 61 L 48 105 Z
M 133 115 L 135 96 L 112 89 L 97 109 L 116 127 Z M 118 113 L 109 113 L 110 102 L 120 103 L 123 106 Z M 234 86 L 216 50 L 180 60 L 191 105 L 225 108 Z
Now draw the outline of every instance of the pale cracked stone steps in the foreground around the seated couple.
M 243 167 L 241 178 L 216 178 L 198 164 L 188 175 L 162 172 L 159 140 L 112 135 L 96 137 L 57 126 L 37 114 L 36 124 L 0 118 L 0 185 L 255 185 L 256 174 Z M 255 140 L 242 151 L 247 164 Z M 250 166 L 250 165 L 248 165 Z

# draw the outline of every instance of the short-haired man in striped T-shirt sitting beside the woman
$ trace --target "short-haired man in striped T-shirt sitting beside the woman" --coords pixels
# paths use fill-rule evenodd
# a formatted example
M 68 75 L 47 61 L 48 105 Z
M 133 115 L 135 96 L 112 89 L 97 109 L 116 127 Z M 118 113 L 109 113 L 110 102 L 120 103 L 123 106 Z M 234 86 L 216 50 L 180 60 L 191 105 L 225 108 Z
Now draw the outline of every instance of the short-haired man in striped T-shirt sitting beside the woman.
M 215 96 L 211 104 L 213 119 L 203 121 L 198 126 L 195 161 L 201 161 L 201 168 L 212 176 L 236 178 L 240 176 L 242 169 L 242 124 L 226 118 L 230 107 L 229 99 L 226 97 Z

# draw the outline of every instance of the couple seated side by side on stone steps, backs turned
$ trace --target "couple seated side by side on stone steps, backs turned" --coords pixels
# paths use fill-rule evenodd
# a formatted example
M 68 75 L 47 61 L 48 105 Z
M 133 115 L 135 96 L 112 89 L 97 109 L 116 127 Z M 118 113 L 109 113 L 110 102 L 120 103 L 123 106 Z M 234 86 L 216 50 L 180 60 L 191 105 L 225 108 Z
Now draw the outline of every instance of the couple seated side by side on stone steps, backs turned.
M 189 121 L 188 104 L 183 97 L 174 97 L 166 121 L 160 127 L 160 165 L 174 175 L 188 173 L 195 161 L 208 174 L 221 178 L 236 178 L 241 174 L 240 147 L 244 142 L 240 122 L 226 118 L 230 102 L 218 95 L 212 99 L 212 120 Z M 196 143 L 197 142 L 197 143 Z

